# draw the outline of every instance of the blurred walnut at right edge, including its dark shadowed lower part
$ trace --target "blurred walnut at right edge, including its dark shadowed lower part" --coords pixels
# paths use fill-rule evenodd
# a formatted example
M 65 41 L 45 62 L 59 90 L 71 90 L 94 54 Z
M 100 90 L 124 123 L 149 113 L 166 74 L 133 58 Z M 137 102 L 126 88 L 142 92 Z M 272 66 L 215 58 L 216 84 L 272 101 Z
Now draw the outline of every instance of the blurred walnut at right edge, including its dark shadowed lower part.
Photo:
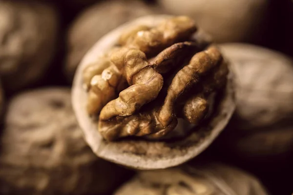
M 293 156 L 293 59 L 259 46 L 219 45 L 235 73 L 236 111 L 216 150 L 257 169 Z

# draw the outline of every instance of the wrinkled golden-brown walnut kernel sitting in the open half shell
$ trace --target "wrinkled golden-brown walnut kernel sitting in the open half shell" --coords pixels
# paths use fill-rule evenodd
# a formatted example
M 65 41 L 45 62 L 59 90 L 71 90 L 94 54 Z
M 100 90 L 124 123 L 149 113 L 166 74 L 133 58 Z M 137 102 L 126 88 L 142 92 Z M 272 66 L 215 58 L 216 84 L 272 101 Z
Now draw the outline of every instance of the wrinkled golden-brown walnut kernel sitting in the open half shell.
M 216 47 L 192 39 L 196 30 L 183 16 L 152 28 L 136 26 L 84 69 L 87 112 L 99 116 L 106 140 L 161 138 L 176 127 L 177 117 L 196 126 L 209 116 L 229 70 Z

